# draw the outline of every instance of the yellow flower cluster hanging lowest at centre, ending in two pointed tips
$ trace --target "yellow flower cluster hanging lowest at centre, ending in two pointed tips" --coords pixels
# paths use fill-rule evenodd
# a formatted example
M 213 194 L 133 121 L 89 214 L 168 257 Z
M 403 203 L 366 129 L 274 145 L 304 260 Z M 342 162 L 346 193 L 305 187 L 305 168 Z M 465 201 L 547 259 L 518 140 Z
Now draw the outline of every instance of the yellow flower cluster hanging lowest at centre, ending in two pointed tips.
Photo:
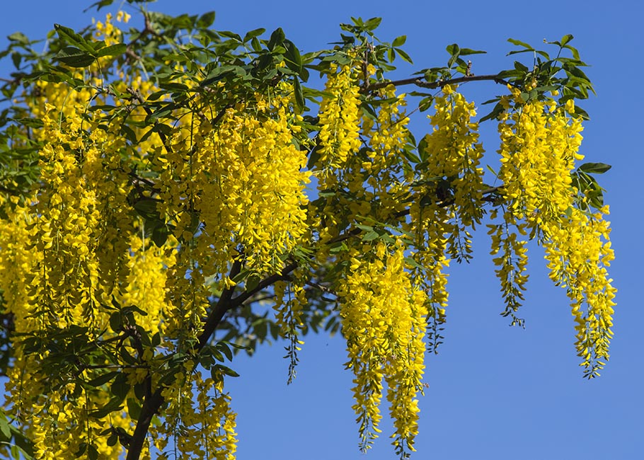
M 362 248 L 369 251 L 368 247 Z M 389 253 L 384 243 L 371 248 L 374 260 L 355 251 L 338 294 L 347 340 L 347 368 L 355 374 L 354 410 L 361 448 L 369 449 L 379 432 L 379 404 L 386 380 L 396 450 L 413 451 L 418 433 L 418 392 L 425 369 L 427 310 L 425 293 L 412 285 L 403 248 Z

